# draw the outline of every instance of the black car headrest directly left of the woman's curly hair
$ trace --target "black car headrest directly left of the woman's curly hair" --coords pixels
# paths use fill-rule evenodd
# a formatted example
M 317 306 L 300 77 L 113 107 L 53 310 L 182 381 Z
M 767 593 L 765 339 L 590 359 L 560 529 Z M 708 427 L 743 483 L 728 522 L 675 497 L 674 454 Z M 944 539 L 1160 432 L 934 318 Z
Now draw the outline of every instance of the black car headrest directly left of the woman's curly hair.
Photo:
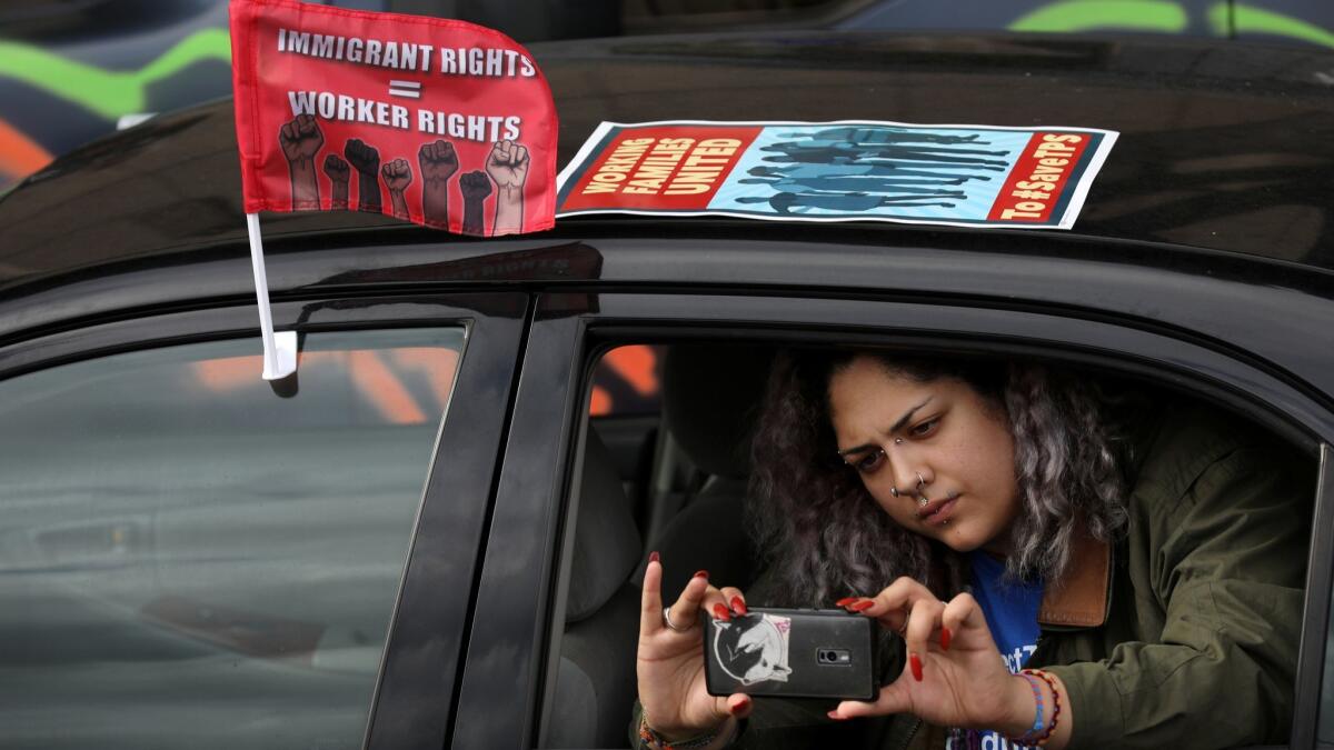
M 750 474 L 750 432 L 774 352 L 732 344 L 683 344 L 663 360 L 663 418 L 691 462 L 708 474 Z

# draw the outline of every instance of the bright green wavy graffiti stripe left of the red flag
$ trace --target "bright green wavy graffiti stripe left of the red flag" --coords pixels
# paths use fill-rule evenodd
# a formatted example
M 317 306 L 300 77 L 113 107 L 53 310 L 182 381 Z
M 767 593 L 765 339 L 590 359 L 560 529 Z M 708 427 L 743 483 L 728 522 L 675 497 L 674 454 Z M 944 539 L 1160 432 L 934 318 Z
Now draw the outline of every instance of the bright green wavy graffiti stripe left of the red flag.
M 20 80 L 115 120 L 121 115 L 143 112 L 151 84 L 209 59 L 231 64 L 232 44 L 225 29 L 195 32 L 137 71 L 104 71 L 28 44 L 0 43 L 0 76 Z

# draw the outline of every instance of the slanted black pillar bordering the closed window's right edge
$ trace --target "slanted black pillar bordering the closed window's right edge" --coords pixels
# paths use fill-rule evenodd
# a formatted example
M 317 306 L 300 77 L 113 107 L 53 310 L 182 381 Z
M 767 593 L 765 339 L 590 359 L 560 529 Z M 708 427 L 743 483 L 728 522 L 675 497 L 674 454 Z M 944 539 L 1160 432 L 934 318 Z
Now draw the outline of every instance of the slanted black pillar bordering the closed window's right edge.
M 524 295 L 494 295 L 492 312 L 472 318 L 390 630 L 368 749 L 438 750 L 448 735 L 526 303 Z

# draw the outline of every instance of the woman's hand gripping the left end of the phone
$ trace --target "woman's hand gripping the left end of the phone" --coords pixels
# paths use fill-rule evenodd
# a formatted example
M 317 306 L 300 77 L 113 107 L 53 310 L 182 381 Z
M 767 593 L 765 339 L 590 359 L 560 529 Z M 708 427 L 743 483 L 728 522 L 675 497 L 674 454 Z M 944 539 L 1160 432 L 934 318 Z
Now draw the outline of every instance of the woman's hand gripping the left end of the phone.
M 636 663 L 639 703 L 648 726 L 668 741 L 726 730 L 732 717 L 750 714 L 751 699 L 743 693 L 718 698 L 706 690 L 704 625 L 699 613 L 706 618 L 746 614 L 746 598 L 739 589 L 710 586 L 708 573 L 702 570 L 671 605 L 671 622 L 680 629 L 672 630 L 663 619 L 662 578 L 655 552 L 644 570 Z

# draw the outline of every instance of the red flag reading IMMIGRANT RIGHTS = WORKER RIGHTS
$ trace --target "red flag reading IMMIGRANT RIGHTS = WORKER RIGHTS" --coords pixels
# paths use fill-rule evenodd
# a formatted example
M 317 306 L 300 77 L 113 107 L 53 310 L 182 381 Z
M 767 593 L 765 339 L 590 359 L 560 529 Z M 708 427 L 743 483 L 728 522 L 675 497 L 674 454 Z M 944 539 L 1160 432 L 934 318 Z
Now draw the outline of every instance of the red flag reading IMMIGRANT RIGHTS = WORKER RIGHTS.
M 292 0 L 232 0 L 231 29 L 247 214 L 370 211 L 471 235 L 555 223 L 555 104 L 506 35 Z

